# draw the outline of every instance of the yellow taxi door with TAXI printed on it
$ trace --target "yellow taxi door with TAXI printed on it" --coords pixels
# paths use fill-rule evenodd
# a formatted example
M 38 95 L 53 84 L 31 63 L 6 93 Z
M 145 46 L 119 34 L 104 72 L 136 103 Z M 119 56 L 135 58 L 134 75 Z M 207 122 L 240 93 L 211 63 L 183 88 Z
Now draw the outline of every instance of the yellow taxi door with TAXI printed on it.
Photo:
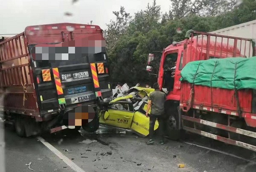
M 134 116 L 132 102 L 118 101 L 108 105 L 108 110 L 99 118 L 99 123 L 108 126 L 116 126 L 124 129 L 131 128 Z

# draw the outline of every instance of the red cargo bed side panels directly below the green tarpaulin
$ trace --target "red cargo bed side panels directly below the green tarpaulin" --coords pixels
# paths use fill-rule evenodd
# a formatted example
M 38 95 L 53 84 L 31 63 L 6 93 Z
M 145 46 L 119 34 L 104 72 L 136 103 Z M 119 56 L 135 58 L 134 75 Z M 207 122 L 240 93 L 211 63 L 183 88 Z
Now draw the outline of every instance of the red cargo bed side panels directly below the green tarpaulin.
M 181 83 L 181 100 L 180 103 L 186 105 L 189 102 L 190 92 L 192 84 L 190 83 Z M 252 91 L 248 90 L 239 90 L 238 91 L 239 105 L 242 112 L 251 113 L 252 106 Z M 219 89 L 219 88 L 210 88 L 207 86 L 194 86 L 194 97 L 193 104 L 191 107 L 208 107 L 210 108 L 221 108 L 222 110 L 237 111 L 237 103 L 234 90 L 230 89 Z

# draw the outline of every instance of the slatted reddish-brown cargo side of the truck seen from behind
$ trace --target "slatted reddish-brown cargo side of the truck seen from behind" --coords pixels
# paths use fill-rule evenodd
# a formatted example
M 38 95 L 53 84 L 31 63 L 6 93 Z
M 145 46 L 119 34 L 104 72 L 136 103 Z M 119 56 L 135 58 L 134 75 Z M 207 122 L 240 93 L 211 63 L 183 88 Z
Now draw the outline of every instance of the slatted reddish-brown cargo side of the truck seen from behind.
M 0 42 L 0 110 L 38 116 L 25 34 Z

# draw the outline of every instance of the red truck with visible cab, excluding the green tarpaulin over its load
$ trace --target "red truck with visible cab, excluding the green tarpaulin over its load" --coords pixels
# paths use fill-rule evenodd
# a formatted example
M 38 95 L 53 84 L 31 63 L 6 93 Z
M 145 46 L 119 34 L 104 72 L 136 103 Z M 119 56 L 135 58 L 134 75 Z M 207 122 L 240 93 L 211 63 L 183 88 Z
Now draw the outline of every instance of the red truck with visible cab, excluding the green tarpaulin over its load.
M 187 63 L 212 58 L 253 57 L 255 41 L 193 30 L 189 30 L 185 38 L 163 49 L 158 73 L 160 88 L 167 94 L 166 113 L 170 116 L 171 137 L 179 138 L 185 130 L 256 151 L 255 90 L 220 89 L 180 82 L 180 72 Z M 149 72 L 154 59 L 154 54 L 148 55 Z

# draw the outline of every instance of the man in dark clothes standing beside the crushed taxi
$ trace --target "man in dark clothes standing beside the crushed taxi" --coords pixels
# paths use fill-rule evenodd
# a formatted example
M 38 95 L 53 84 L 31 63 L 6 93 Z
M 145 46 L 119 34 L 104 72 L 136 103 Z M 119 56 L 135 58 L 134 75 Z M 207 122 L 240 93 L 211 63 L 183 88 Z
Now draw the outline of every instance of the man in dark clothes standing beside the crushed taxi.
M 146 144 L 153 144 L 153 134 L 154 134 L 154 125 L 156 123 L 156 120 L 158 120 L 159 123 L 159 130 L 160 130 L 160 136 L 161 141 L 160 144 L 164 144 L 164 103 L 166 100 L 166 94 L 163 92 L 160 92 L 158 83 L 154 83 L 154 92 L 151 92 L 148 97 L 148 107 L 146 111 L 146 117 L 148 117 L 148 111 L 151 108 L 151 113 L 149 115 L 149 140 Z

